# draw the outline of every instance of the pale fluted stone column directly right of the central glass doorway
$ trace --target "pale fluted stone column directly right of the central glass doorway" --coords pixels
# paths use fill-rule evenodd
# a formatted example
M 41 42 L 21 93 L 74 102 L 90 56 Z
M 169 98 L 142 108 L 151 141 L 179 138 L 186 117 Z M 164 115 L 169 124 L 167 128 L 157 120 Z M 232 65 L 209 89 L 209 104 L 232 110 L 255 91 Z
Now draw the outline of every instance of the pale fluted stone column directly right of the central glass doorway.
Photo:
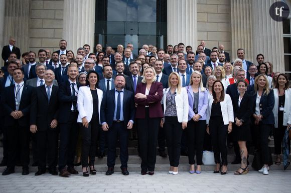
M 197 44 L 197 0 L 167 0 L 168 42 Z M 185 17 L 187 15 L 187 17 Z

